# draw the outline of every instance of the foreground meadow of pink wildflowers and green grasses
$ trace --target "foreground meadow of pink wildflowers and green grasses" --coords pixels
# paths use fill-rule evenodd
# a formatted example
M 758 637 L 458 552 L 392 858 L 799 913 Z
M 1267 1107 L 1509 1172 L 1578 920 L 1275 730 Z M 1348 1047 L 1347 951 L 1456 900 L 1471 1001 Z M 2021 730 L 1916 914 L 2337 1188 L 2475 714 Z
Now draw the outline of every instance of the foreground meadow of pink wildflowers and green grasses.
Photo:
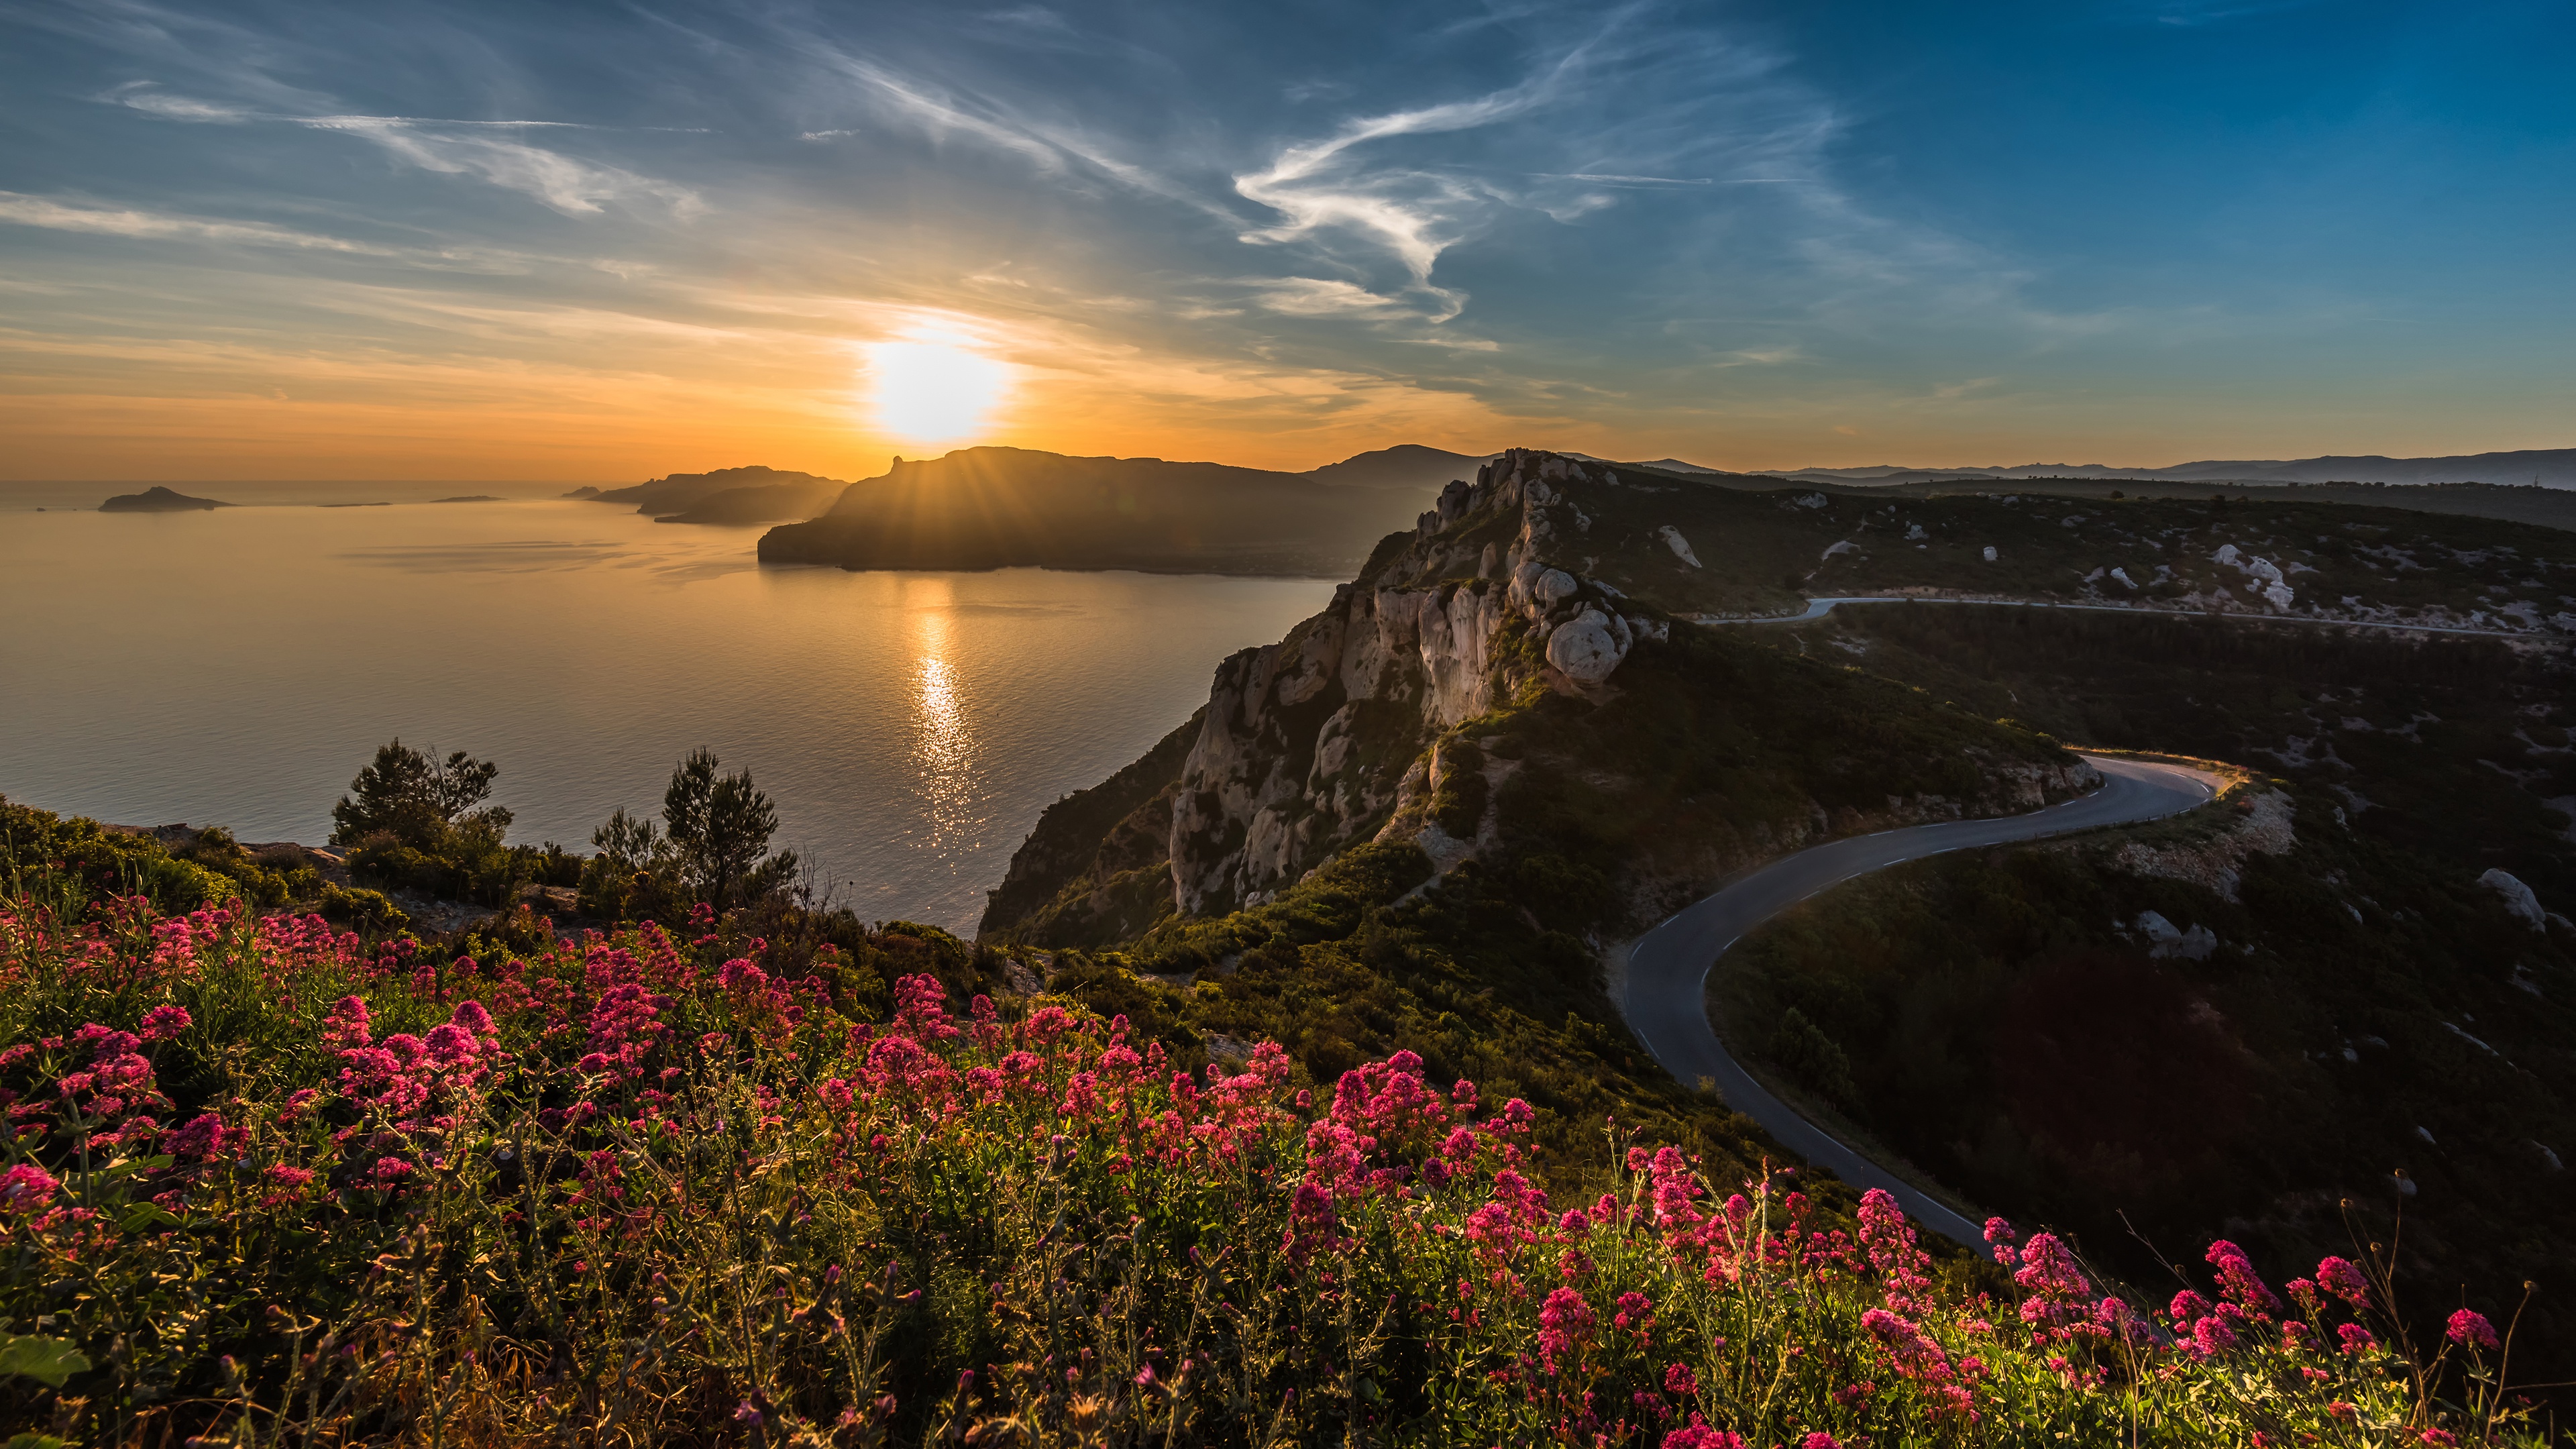
M 0 908 L 0 1434 L 39 1444 L 2537 1444 L 2509 1325 L 2233 1245 L 2148 1302 L 1883 1194 L 1705 1181 L 1412 1052 L 1182 1070 L 1126 1018 L 685 926 L 368 941 Z M 482 941 L 482 938 L 477 938 Z M 469 941 L 477 944 L 477 941 Z M 487 944 L 487 941 L 482 941 Z M 886 1000 L 891 1013 L 871 1013 Z M 886 1016 L 871 1021 L 868 1016 Z M 2367 1256 L 2365 1256 L 2367 1258 Z M 1971 1274 L 1976 1276 L 1976 1274 Z

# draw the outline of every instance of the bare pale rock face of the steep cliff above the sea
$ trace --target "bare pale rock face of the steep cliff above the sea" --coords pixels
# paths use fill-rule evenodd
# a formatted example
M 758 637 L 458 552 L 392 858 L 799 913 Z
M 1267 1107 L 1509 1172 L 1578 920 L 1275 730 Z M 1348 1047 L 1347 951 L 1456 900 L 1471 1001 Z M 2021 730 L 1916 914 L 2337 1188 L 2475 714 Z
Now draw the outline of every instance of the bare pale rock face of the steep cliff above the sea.
M 1440 732 L 1530 683 L 1610 688 L 1638 639 L 1667 637 L 1654 611 L 1584 578 L 1579 495 L 1600 482 L 1600 464 L 1502 454 L 1321 614 L 1216 670 L 1172 810 L 1182 913 L 1267 900 L 1425 792 L 1414 766 Z

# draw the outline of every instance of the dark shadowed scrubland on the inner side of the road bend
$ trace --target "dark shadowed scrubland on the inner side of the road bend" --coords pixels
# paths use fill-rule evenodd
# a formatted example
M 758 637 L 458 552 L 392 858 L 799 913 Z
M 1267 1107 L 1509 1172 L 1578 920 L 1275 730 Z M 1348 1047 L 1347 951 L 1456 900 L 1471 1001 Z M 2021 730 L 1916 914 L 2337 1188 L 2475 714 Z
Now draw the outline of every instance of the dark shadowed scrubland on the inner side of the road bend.
M 2226 1225 L 2259 1261 L 2398 1240 L 2419 1312 L 2506 1312 L 2566 1379 L 2576 1281 L 2576 938 L 2478 884 L 2576 892 L 2568 663 L 2027 608 L 1855 611 L 1806 629 L 1935 699 L 2105 745 L 2244 761 L 2295 822 L 2233 882 L 2123 848 L 2231 820 L 1919 861 L 1747 936 L 1718 977 L 1728 1042 L 1808 1109 L 2105 1263 Z M 2141 913 L 2213 936 L 2156 951 Z M 2393 1176 L 2403 1173 L 2403 1178 Z M 2349 1201 L 2349 1207 L 2347 1207 Z

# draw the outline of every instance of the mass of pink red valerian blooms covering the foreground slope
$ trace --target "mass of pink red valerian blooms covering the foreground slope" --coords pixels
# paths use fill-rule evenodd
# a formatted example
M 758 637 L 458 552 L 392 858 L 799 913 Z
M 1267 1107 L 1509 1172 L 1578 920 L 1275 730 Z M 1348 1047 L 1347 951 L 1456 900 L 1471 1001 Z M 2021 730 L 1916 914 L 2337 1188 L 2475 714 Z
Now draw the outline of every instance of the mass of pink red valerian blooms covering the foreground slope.
M 368 946 L 317 918 L 160 920 L 116 902 L 62 931 L 0 910 L 0 985 L 62 993 L 82 1006 L 52 1021 L 85 1021 L 0 1047 L 13 1124 L 0 1230 L 31 1263 L 18 1287 L 0 1284 L 26 1299 L 0 1315 L 59 1312 L 31 1294 L 75 1263 L 82 1281 L 149 1281 L 170 1253 L 276 1230 L 348 1269 L 330 1292 L 242 1289 L 242 1302 L 345 1294 L 353 1279 L 389 1294 L 363 1323 L 394 1323 L 415 1312 L 397 1292 L 407 1274 L 448 1271 L 433 1245 L 482 1232 L 479 1256 L 453 1258 L 484 1276 L 420 1302 L 484 1302 L 489 1266 L 507 1263 L 507 1292 L 556 1294 L 551 1323 L 603 1325 L 585 1354 L 636 1361 L 626 1343 L 672 1356 L 708 1343 L 672 1369 L 667 1400 L 778 1441 L 814 1428 L 796 1415 L 819 1400 L 835 1408 L 814 1423 L 878 1434 L 912 1415 L 927 1439 L 933 1403 L 999 1403 L 979 1395 L 1007 1385 L 1036 1395 L 1025 1413 L 1061 1413 L 1066 1439 L 1097 1441 L 1131 1415 L 1118 1418 L 1128 1441 L 1185 1441 L 1180 1418 L 1149 1415 L 1177 1415 L 1193 1395 L 1255 1403 L 1247 1379 L 1221 1377 L 1247 1364 L 1280 1374 L 1260 1413 L 1311 1436 L 1376 1434 L 1386 1421 L 1370 1415 L 1396 1415 L 1399 1395 L 1414 1395 L 1401 1413 L 1455 1415 L 1443 1421 L 1455 1441 L 1479 1444 L 2012 1441 L 2022 1421 L 2112 1421 L 2094 1395 L 2138 1392 L 2169 1395 L 2166 1421 L 2202 1441 L 2295 1444 L 2347 1415 L 2414 1413 L 2432 1431 L 2391 1408 L 2398 1379 L 2360 1323 L 2375 1294 L 2342 1258 L 2287 1284 L 2290 1312 L 2249 1253 L 2210 1243 L 2202 1289 L 2174 1294 L 2159 1325 L 2058 1235 L 2025 1240 L 1996 1217 L 1986 1243 L 2012 1302 L 1963 1299 L 1886 1191 L 1837 1220 L 1790 1171 L 1710 1181 L 1682 1147 L 1631 1137 L 1607 1191 L 1551 1194 L 1535 1109 L 1489 1104 L 1468 1080 L 1435 1085 L 1414 1052 L 1329 1083 L 1301 1078 L 1273 1042 L 1195 1065 L 1175 1060 L 1185 1042 L 1123 1016 L 953 995 L 933 975 L 886 982 L 891 1013 L 860 1021 L 824 977 L 729 938 L 711 913 L 688 938 L 641 926 L 477 957 Z M 283 1044 L 276 1060 L 224 1057 L 204 1024 L 258 1011 Z M 824 1232 L 837 1232 L 829 1261 L 688 1258 L 711 1243 L 791 1256 Z M 1025 1256 L 956 1258 L 987 1240 Z M 953 1271 L 907 1284 L 912 1263 Z M 1108 1276 L 1082 1287 L 1082 1263 Z M 1136 1287 L 1157 1263 L 1170 1276 Z M 706 1307 L 719 1299 L 721 1312 Z M 1064 1333 L 1059 1299 L 1136 1320 L 1103 1320 L 1077 1348 L 1010 1338 L 1012 1325 Z M 930 1387 L 850 1377 L 868 1361 L 871 1318 L 933 1312 L 981 1328 L 917 1333 L 925 1343 L 1012 1346 L 963 1374 L 948 1364 Z M 1273 1338 L 1249 1346 L 1239 1336 L 1257 1320 Z M 719 1354 L 739 1325 L 762 1346 Z M 348 1359 L 330 1372 L 389 1377 L 392 1356 L 433 1351 L 425 1338 L 337 1341 L 294 1372 Z M 1115 1364 L 1113 1338 L 1128 1343 Z M 469 1341 L 459 1330 L 456 1354 L 482 1354 Z M 2470 1310 L 2450 1341 L 2501 1348 Z M 116 1338 L 95 1343 L 106 1361 Z M 137 1341 L 121 1343 L 131 1356 Z M 801 1387 L 742 1377 L 742 1364 L 788 1361 L 793 1343 L 819 1364 Z M 479 1369 L 451 1356 L 438 1372 Z M 216 1387 L 201 1397 L 234 1403 Z M 2210 1405 L 2236 1418 L 2208 1418 Z M 976 1441 L 963 1423 L 943 1441 Z

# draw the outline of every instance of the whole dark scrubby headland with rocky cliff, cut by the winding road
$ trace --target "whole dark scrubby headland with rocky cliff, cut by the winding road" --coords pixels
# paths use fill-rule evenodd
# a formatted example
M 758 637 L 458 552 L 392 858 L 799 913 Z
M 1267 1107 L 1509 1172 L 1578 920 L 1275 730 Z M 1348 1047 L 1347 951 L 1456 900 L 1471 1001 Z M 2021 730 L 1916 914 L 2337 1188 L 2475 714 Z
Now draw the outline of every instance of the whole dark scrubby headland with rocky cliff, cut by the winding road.
M 1834 544 L 1852 547 L 1829 554 Z M 1324 614 L 1226 660 L 1195 727 L 1051 810 L 984 933 L 1090 962 L 1059 977 L 1064 990 L 1139 1021 L 1273 1034 L 1319 1070 L 1401 1047 L 1520 1073 L 1533 1101 L 1564 1114 L 1600 1111 L 1656 1075 L 1607 1008 L 1602 954 L 1718 879 L 1832 835 L 2081 789 L 2084 766 L 2058 740 L 2226 758 L 2264 779 L 2287 768 L 2295 848 L 2231 843 L 2239 799 L 2079 853 L 1963 856 L 1844 887 L 1834 900 L 1899 905 L 1808 908 L 1765 941 L 1816 946 L 1749 944 L 1726 980 L 1752 995 L 1721 998 L 1721 1029 L 1747 1034 L 1775 1073 L 1821 1073 L 1826 1085 L 1808 1088 L 1819 1111 L 1878 1132 L 1942 1186 L 2079 1230 L 2102 1261 L 2148 1276 L 2156 1263 L 2112 1227 L 2123 1209 L 2154 1217 L 2164 1240 L 2239 1232 L 2267 1261 L 2339 1243 L 2344 1196 L 2385 1232 L 2370 1217 L 2393 1201 L 2383 1158 L 2424 1147 L 2414 1129 L 2427 1127 L 2455 1168 L 2450 1196 L 2409 1199 L 2429 1220 L 2406 1238 L 2414 1302 L 2455 1302 L 2468 1284 L 2470 1302 L 2509 1307 L 2519 1279 L 2506 1261 L 2558 1263 L 2545 1243 L 2571 1227 L 2550 1158 L 2512 1142 L 2566 1134 L 2576 1098 L 2561 1093 L 2576 1080 L 2509 1083 L 2476 1065 L 2486 1047 L 2506 1075 L 2555 1052 L 2543 1047 L 2558 1039 L 2555 1008 L 2522 1013 L 2522 1057 L 2460 1013 L 2512 1018 L 2509 1003 L 2535 990 L 2576 995 L 2566 926 L 2535 931 L 2481 884 L 2504 869 L 2561 910 L 2576 887 L 2561 835 L 2576 804 L 2558 717 L 2568 624 L 2524 619 L 2568 603 L 2571 544 L 2303 498 L 2215 511 L 1862 500 L 1504 454 L 1386 539 Z M 2275 585 L 2257 565 L 2272 565 L 2287 603 L 2251 590 Z M 2110 567 L 2172 611 L 1878 606 L 1785 629 L 1690 621 L 1716 606 L 1783 608 L 1793 580 L 1927 596 L 1978 580 L 1986 596 L 2125 601 Z M 2522 639 L 2318 629 L 2326 619 L 2476 619 Z M 2352 766 L 2370 773 L 2342 773 Z M 1417 864 L 1383 905 L 1327 908 L 1309 884 L 1386 851 Z M 2020 859 L 2038 864 L 2009 864 Z M 1909 884 L 1919 879 L 1963 884 Z M 2138 926 L 2148 910 L 2177 938 L 2215 931 L 2221 949 L 2172 959 Z M 1989 1080 L 1996 1026 L 2022 1021 L 2012 982 L 2056 990 L 2061 962 L 2076 959 L 2120 962 L 2117 980 L 2164 993 L 2138 1011 L 2172 1016 L 2179 1000 L 2184 1047 L 2215 1031 L 2228 1052 L 2241 1042 L 2272 1062 L 2244 1083 L 2210 1078 L 2251 1098 L 2233 1109 L 2233 1134 L 2205 1134 L 2208 1155 L 2156 1158 L 2164 1140 L 2141 1137 L 2161 1163 L 2154 1178 L 2069 1168 L 2027 1140 L 1981 1155 L 2012 1142 L 1991 1129 L 2002 1088 L 1950 1083 Z M 2092 1011 L 2084 993 L 2058 995 L 2035 998 L 2030 1021 Z M 1808 1026 L 1785 1026 L 1793 1006 Z M 2112 1021 L 2128 1011 L 2102 1008 Z M 2349 1044 L 2372 1062 L 2365 1036 L 2411 1044 L 2401 1049 L 2419 1065 L 2324 1080 L 2316 1055 L 2342 1060 Z M 2069 1036 L 2048 1057 L 2056 1078 L 2014 1091 L 2043 1104 L 2161 1091 L 2136 1052 L 2089 1042 Z M 2434 1052 L 2442 1042 L 2476 1062 Z M 1641 1085 L 1587 1088 L 1584 1060 Z M 2215 1101 L 2164 1096 L 2172 1109 L 2159 1096 L 2154 1122 L 2190 1124 Z M 2514 1106 L 2499 1116 L 2491 1101 Z M 2488 1122 L 2468 1129 L 2481 1111 Z M 2272 1132 L 2306 1137 L 2275 1150 Z M 2267 1152 L 2262 1171 L 2246 1165 Z M 2532 1359 L 2576 1359 L 2548 1312 Z

